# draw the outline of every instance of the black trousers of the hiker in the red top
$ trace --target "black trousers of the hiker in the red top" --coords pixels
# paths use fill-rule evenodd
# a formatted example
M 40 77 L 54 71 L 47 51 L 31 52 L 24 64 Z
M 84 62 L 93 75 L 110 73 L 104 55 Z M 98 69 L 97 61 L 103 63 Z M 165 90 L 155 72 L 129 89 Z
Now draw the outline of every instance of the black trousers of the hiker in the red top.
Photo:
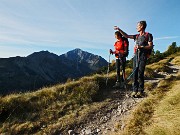
M 117 82 L 124 82 L 125 66 L 126 66 L 126 57 L 116 59 Z M 122 76 L 120 76 L 121 68 L 123 71 Z

